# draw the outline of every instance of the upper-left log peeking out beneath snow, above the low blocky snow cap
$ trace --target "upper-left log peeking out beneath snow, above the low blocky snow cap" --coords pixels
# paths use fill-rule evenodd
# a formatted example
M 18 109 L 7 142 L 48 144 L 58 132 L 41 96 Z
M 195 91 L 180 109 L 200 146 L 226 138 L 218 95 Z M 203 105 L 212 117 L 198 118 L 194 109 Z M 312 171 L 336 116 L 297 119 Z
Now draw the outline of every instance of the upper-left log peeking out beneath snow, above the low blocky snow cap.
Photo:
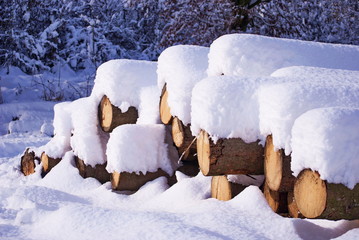
M 126 112 L 122 112 L 111 104 L 107 96 L 103 96 L 98 108 L 98 117 L 102 130 L 112 132 L 117 126 L 136 123 L 138 111 L 135 107 L 129 107 Z

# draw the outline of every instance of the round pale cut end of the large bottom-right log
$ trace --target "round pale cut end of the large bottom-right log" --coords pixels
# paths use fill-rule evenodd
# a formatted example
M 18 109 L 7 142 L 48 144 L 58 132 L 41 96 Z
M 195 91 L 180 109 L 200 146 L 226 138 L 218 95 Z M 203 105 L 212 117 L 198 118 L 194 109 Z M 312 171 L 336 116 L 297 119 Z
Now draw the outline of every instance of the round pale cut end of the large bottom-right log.
M 307 218 L 320 216 L 327 201 L 326 183 L 318 172 L 303 170 L 294 186 L 294 198 L 298 210 Z

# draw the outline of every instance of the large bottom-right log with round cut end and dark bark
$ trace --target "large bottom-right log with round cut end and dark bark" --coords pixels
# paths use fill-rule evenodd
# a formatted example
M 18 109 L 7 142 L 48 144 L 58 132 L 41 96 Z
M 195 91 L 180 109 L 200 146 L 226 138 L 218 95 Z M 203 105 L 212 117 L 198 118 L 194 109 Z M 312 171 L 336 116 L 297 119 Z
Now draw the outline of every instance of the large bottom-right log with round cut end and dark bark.
M 294 199 L 306 218 L 359 219 L 359 184 L 350 190 L 343 184 L 327 183 L 318 172 L 305 169 L 295 182 Z

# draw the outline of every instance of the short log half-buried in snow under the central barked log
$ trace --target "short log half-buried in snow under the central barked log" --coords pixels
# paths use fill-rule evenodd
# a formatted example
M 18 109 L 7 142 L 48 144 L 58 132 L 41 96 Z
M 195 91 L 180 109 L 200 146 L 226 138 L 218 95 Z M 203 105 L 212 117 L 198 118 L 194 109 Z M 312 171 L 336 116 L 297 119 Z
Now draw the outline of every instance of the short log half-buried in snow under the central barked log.
M 227 176 L 213 176 L 211 181 L 212 198 L 228 201 L 242 192 L 246 186 L 228 181 Z

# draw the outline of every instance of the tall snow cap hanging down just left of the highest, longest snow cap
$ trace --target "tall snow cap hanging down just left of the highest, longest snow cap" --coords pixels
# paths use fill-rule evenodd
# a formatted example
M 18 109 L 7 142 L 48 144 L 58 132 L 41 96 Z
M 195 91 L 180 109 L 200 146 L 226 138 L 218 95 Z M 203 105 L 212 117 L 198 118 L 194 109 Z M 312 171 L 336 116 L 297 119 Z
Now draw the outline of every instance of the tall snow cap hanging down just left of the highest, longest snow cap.
M 164 50 L 158 58 L 158 88 L 166 84 L 172 116 L 184 125 L 191 123 L 191 93 L 197 82 L 207 76 L 209 48 L 177 45 Z

